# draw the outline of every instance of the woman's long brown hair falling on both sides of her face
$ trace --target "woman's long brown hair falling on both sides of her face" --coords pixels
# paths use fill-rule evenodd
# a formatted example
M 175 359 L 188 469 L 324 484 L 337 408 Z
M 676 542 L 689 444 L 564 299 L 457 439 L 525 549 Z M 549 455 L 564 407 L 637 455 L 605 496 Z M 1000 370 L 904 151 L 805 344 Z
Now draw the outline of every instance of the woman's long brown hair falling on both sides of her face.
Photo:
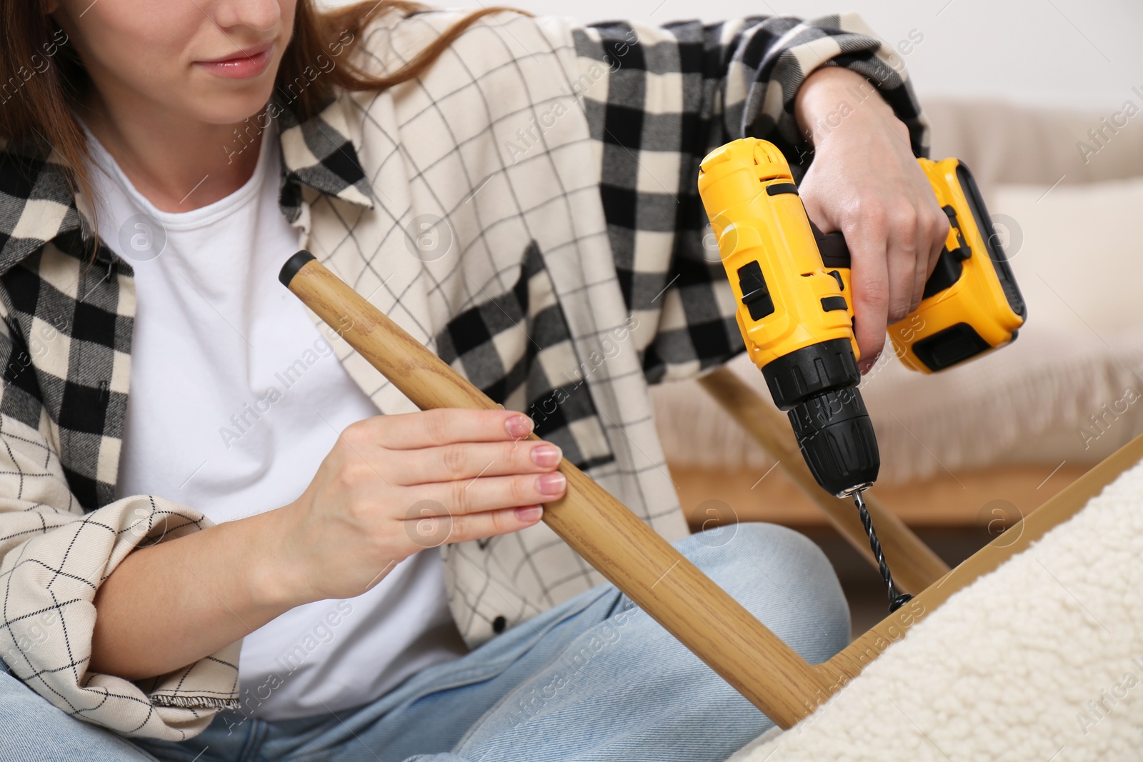
M 374 18 L 389 11 L 408 16 L 432 8 L 414 0 L 362 0 L 330 10 L 318 10 L 314 0 L 297 0 L 294 33 L 278 67 L 275 89 L 297 81 L 306 70 L 312 72 L 320 61 L 328 61 L 331 45 L 344 46 L 344 49 L 338 48 L 339 63 L 329 70 L 322 69 L 326 72 L 322 77 L 305 78 L 307 86 L 291 102 L 295 113 L 306 119 L 329 102 L 336 88 L 383 90 L 421 75 L 482 16 L 505 10 L 533 15 L 504 6 L 479 8 L 445 30 L 405 66 L 384 77 L 369 74 L 345 55 L 360 41 Z M 67 169 L 72 192 L 90 198 L 87 139 L 71 111 L 88 83 L 75 48 L 43 13 L 41 3 L 33 0 L 0 0 L 0 29 L 5 30 L 5 39 L 0 42 L 0 138 L 33 141 L 45 155 L 55 150 Z M 350 35 L 347 41 L 346 33 Z M 15 91 L 11 97 L 9 90 Z M 95 214 L 94 208 L 91 214 Z

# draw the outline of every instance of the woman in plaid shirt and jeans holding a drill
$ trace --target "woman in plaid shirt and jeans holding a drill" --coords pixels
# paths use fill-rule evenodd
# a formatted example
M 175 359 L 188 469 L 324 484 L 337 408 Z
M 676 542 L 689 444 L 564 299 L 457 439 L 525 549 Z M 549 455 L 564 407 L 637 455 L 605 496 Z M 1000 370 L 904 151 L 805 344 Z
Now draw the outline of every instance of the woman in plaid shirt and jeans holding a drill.
M 808 540 L 680 539 L 647 384 L 741 347 L 695 181 L 745 134 L 849 240 L 865 368 L 918 303 L 948 223 L 858 19 L 0 8 L 6 759 L 724 759 L 769 721 L 539 523 L 561 454 L 846 643 Z M 301 247 L 505 409 L 415 411 Z

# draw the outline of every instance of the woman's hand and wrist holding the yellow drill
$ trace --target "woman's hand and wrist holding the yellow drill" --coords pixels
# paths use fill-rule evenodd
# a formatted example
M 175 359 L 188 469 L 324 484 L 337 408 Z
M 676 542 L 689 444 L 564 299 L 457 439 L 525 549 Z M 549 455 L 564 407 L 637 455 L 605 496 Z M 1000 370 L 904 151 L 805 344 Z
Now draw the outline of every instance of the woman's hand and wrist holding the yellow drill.
M 806 211 L 823 232 L 841 231 L 853 257 L 854 335 L 865 372 L 885 347 L 886 328 L 920 304 L 949 218 L 908 128 L 864 77 L 839 66 L 813 72 L 794 115 L 814 145 L 799 187 Z

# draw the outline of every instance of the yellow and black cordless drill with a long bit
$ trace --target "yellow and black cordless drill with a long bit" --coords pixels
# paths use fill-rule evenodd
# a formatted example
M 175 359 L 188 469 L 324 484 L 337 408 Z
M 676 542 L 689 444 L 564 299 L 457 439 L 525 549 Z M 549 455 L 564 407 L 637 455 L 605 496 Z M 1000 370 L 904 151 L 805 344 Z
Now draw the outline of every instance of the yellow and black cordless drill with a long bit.
M 918 308 L 889 326 L 913 370 L 944 370 L 1016 338 L 1026 307 L 972 174 L 957 159 L 918 159 L 951 228 Z M 703 159 L 698 192 L 735 298 L 746 352 L 785 410 L 810 473 L 853 496 L 889 591 L 896 593 L 862 491 L 880 470 L 877 436 L 857 384 L 849 250 L 823 234 L 774 144 L 733 141 Z

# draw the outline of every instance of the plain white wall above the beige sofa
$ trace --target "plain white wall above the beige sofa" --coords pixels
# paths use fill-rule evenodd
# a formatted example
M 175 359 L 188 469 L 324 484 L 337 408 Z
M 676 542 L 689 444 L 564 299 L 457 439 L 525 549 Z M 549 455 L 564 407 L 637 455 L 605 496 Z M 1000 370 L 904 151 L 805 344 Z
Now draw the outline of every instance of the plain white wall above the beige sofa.
M 493 0 L 441 0 L 479 7 Z M 1143 105 L 1143 2 L 1138 0 L 496 0 L 585 22 L 662 24 L 754 14 L 814 16 L 856 10 L 884 39 L 910 30 L 924 41 L 906 58 L 919 95 L 996 97 L 1018 103 L 1119 110 Z

